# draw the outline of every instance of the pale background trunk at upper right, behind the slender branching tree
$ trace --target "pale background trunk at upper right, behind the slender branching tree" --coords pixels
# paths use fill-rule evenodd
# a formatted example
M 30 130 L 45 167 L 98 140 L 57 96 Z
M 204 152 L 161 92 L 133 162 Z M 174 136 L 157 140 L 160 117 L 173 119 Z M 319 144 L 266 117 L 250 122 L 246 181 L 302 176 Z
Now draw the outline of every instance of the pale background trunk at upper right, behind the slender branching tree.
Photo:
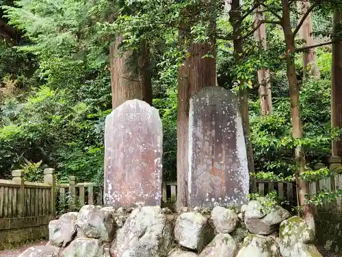
M 306 11 L 310 8 L 309 1 L 298 1 L 298 12 L 300 13 L 300 19 L 306 13 Z M 309 47 L 314 45 L 313 42 L 313 25 L 311 21 L 311 14 L 308 14 L 306 17 L 302 27 L 300 28 L 300 37 L 304 40 L 304 46 Z M 320 77 L 319 69 L 317 66 L 315 51 L 314 49 L 309 49 L 308 51 L 303 52 L 303 69 L 304 69 L 304 77 L 307 73 L 313 75 L 314 77 Z

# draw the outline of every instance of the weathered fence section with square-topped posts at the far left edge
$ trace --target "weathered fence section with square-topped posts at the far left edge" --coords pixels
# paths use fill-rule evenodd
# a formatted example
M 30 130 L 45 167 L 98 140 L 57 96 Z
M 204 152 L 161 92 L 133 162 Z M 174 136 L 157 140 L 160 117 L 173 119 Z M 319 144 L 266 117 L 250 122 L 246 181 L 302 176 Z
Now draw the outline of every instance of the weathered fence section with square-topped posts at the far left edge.
M 0 180 L 0 249 L 4 243 L 47 234 L 49 221 L 55 219 L 54 170 L 44 169 L 43 183 L 24 181 L 21 170 L 12 175 L 12 180 Z

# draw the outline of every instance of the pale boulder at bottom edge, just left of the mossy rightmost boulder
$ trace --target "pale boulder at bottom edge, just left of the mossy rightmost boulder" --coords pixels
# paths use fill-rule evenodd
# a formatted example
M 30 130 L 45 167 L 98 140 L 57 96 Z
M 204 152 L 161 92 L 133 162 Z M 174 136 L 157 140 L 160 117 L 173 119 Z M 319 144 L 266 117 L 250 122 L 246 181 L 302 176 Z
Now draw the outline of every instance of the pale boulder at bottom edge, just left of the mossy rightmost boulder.
M 269 236 L 249 234 L 244 239 L 244 247 L 239 250 L 237 257 L 279 257 L 278 245 Z

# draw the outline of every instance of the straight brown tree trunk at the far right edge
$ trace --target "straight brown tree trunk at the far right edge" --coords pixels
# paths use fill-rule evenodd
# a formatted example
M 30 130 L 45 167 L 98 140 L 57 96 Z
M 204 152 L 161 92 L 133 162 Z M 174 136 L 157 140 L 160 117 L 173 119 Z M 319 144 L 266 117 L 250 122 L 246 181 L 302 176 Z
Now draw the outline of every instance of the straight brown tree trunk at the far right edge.
M 334 11 L 334 34 L 341 34 L 342 10 Z M 340 31 L 339 31 L 340 30 Z M 336 37 L 334 39 L 337 39 Z M 331 127 L 342 128 L 342 42 L 332 44 Z M 332 141 L 332 156 L 342 157 L 342 138 Z

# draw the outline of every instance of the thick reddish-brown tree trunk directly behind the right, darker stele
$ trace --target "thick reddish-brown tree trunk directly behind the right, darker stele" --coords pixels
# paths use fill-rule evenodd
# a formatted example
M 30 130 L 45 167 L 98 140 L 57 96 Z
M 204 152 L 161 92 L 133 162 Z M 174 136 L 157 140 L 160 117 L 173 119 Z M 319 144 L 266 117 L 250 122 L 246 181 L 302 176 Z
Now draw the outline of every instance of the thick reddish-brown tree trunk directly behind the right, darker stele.
M 179 31 L 179 44 L 183 44 L 186 32 Z M 211 52 L 214 58 L 202 58 Z M 187 206 L 189 175 L 189 100 L 201 88 L 215 86 L 215 45 L 192 44 L 189 57 L 179 68 L 178 119 L 177 119 L 177 210 Z

